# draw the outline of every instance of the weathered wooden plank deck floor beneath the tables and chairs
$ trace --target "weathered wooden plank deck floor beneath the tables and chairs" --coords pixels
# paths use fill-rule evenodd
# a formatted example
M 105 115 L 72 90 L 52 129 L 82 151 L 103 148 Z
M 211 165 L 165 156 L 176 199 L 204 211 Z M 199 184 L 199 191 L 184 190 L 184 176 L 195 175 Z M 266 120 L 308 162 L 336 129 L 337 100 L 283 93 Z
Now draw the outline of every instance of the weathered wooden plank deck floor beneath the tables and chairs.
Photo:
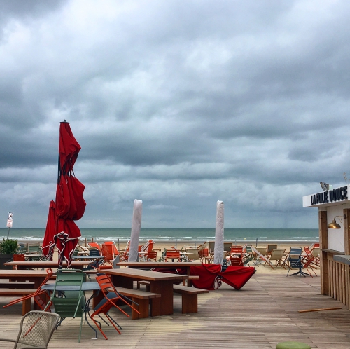
M 0 299 L 0 306 L 6 298 Z M 9 300 L 9 299 L 8 299 Z M 109 340 L 78 319 L 65 320 L 49 348 L 276 348 L 281 341 L 302 341 L 311 348 L 349 349 L 350 311 L 329 296 L 320 295 L 320 278 L 267 275 L 263 271 L 240 291 L 223 284 L 218 291 L 198 296 L 198 313 L 181 314 L 181 295 L 174 296 L 174 315 L 131 320 L 113 310 L 123 327 L 118 335 L 102 324 Z M 342 307 L 339 310 L 298 313 L 297 310 Z M 0 337 L 15 337 L 22 305 L 0 308 Z M 0 348 L 13 348 L 0 343 Z

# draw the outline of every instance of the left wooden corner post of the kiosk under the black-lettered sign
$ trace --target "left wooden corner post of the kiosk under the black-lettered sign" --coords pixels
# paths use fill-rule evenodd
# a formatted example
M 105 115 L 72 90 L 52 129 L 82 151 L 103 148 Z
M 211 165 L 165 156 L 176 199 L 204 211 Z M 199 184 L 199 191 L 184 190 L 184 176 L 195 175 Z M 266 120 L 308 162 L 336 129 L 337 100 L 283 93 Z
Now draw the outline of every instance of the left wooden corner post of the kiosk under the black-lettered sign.
M 323 249 L 328 249 L 328 224 L 327 224 L 327 211 L 321 211 L 318 209 L 318 229 L 320 234 L 320 256 L 321 256 L 321 294 L 327 296 L 330 295 L 330 271 L 327 260 L 327 252 L 323 252 Z

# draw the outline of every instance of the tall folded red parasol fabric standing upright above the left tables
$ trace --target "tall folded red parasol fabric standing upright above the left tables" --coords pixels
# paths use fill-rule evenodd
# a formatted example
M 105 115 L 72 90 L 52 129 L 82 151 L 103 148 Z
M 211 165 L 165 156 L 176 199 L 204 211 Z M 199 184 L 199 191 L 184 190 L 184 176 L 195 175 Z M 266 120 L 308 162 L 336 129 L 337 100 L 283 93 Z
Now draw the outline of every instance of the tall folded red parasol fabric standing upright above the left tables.
M 59 266 L 62 266 L 63 261 L 66 261 L 68 266 L 71 265 L 71 257 L 81 236 L 80 229 L 74 221 L 83 217 L 85 212 L 86 203 L 83 198 L 85 186 L 74 177 L 73 172 L 73 165 L 80 149 L 69 123 L 63 121 L 59 127 L 56 199 L 55 203 L 52 201 L 55 204 L 55 225 L 49 217 L 43 244 L 43 254 L 48 256 L 48 259 L 52 259 L 53 247 L 57 247 Z M 51 240 L 53 243 L 50 243 Z

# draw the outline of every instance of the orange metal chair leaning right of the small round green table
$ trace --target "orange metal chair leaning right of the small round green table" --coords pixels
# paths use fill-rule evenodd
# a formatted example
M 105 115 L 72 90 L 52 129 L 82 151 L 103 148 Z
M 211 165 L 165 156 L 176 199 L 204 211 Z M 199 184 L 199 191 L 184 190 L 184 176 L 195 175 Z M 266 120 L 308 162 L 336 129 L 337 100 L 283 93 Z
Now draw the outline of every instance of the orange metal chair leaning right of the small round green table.
M 94 322 L 94 324 L 96 324 L 99 331 L 103 334 L 104 338 L 108 339 L 106 334 L 104 334 L 104 331 L 102 331 L 101 324 L 96 320 L 94 320 L 94 317 L 96 315 L 101 317 L 101 314 L 104 314 L 109 320 L 109 322 L 111 322 L 113 327 L 118 331 L 118 333 L 121 334 L 119 329 L 116 327 L 116 324 L 120 329 L 122 328 L 109 315 L 109 310 L 111 310 L 111 308 L 113 307 L 116 307 L 123 314 L 127 315 L 127 317 L 130 317 L 130 315 L 125 313 L 125 311 L 117 305 L 118 301 L 123 301 L 125 304 L 127 304 L 127 306 L 130 306 L 130 308 L 132 308 L 133 311 L 136 311 L 137 313 L 140 313 L 140 312 L 139 310 L 135 309 L 132 305 L 127 303 L 127 301 L 125 301 L 123 296 L 120 296 L 120 294 L 117 292 L 116 287 L 114 287 L 108 275 L 104 275 L 104 274 L 99 275 L 96 277 L 96 281 L 99 283 L 99 287 L 101 287 L 101 291 L 102 291 L 102 294 L 104 295 L 104 299 L 102 299 L 102 301 L 100 301 L 99 304 L 97 304 L 97 306 L 94 308 L 94 313 L 92 313 L 91 319 Z

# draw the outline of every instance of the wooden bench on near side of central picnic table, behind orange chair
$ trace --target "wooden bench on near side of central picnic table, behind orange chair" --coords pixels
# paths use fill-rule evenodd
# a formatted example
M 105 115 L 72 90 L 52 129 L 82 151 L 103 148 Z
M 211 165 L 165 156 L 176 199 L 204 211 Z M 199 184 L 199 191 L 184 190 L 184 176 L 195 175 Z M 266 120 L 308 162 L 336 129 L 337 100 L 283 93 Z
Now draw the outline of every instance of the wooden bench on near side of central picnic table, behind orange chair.
M 160 298 L 159 293 L 145 292 L 140 289 L 127 289 L 125 287 L 116 286 L 116 290 L 123 296 L 129 297 L 137 304 L 132 303 L 132 306 L 139 310 L 140 314 L 132 309 L 132 320 L 144 319 L 149 316 L 150 299 Z

